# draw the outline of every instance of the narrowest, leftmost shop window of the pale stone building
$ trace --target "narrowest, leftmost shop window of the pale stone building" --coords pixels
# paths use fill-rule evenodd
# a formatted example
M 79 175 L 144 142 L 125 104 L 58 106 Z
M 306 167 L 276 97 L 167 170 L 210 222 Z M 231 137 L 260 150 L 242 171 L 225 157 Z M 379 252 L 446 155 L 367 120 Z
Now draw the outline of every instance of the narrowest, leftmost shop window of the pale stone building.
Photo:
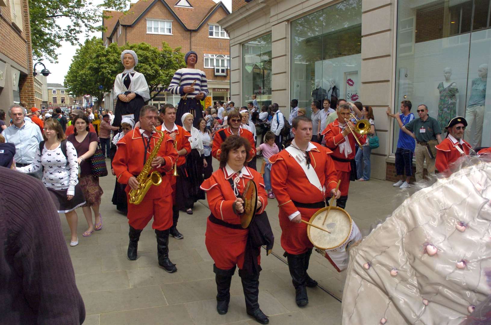
M 264 35 L 242 45 L 242 105 L 252 101 L 256 95 L 257 104 L 271 104 L 271 34 Z M 236 103 L 237 106 L 237 103 Z

